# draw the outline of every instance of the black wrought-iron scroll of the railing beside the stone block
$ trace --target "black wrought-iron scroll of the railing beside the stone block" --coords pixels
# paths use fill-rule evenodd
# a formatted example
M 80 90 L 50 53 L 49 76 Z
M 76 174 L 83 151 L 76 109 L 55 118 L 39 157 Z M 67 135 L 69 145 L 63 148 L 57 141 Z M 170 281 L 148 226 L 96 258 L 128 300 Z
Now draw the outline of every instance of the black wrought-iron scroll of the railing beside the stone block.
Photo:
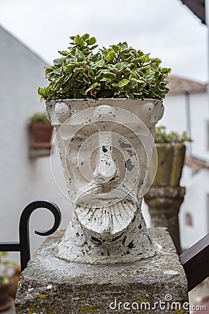
M 35 230 L 35 233 L 40 236 L 48 236 L 54 233 L 61 223 L 61 211 L 59 207 L 48 200 L 38 200 L 28 204 L 20 216 L 19 237 L 20 242 L 0 243 L 0 251 L 20 251 L 20 262 L 22 271 L 25 269 L 27 262 L 29 262 L 30 242 L 29 242 L 29 219 L 33 211 L 39 208 L 49 209 L 54 215 L 54 225 L 50 230 L 42 231 Z

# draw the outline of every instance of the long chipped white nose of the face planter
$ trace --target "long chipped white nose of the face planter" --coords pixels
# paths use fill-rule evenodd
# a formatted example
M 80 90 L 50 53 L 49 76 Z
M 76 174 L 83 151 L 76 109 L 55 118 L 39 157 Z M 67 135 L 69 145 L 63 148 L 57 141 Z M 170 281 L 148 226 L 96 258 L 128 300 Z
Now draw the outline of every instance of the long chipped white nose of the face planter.
M 111 134 L 100 133 L 98 164 L 93 172 L 96 183 L 104 184 L 116 175 L 116 165 L 112 158 Z

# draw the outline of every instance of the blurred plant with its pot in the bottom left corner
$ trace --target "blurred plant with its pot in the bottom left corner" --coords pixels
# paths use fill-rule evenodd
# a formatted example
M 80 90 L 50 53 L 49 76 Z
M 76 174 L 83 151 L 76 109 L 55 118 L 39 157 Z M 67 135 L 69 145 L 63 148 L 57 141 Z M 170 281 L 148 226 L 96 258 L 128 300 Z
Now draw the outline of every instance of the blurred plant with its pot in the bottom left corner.
M 6 259 L 8 253 L 0 252 L 0 311 L 6 311 L 14 304 L 11 292 L 17 291 L 17 282 L 13 287 L 16 264 Z

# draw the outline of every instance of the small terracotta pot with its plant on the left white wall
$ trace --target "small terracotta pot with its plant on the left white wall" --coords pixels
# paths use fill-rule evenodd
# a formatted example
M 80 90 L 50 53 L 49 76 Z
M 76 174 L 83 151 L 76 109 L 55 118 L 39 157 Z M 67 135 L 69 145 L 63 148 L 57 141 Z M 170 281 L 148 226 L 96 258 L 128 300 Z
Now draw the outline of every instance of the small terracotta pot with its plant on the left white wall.
M 53 127 L 45 117 L 44 112 L 37 112 L 29 118 L 31 146 L 33 149 L 51 149 Z

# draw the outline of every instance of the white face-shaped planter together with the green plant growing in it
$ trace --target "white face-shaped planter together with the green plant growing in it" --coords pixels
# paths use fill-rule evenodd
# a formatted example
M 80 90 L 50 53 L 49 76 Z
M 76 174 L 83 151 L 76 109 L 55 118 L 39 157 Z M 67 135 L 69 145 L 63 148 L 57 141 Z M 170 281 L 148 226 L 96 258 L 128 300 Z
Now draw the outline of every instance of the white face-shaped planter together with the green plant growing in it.
M 141 200 L 171 69 L 126 42 L 94 53 L 95 37 L 70 39 L 38 88 L 74 207 L 56 256 L 91 264 L 153 256 Z

